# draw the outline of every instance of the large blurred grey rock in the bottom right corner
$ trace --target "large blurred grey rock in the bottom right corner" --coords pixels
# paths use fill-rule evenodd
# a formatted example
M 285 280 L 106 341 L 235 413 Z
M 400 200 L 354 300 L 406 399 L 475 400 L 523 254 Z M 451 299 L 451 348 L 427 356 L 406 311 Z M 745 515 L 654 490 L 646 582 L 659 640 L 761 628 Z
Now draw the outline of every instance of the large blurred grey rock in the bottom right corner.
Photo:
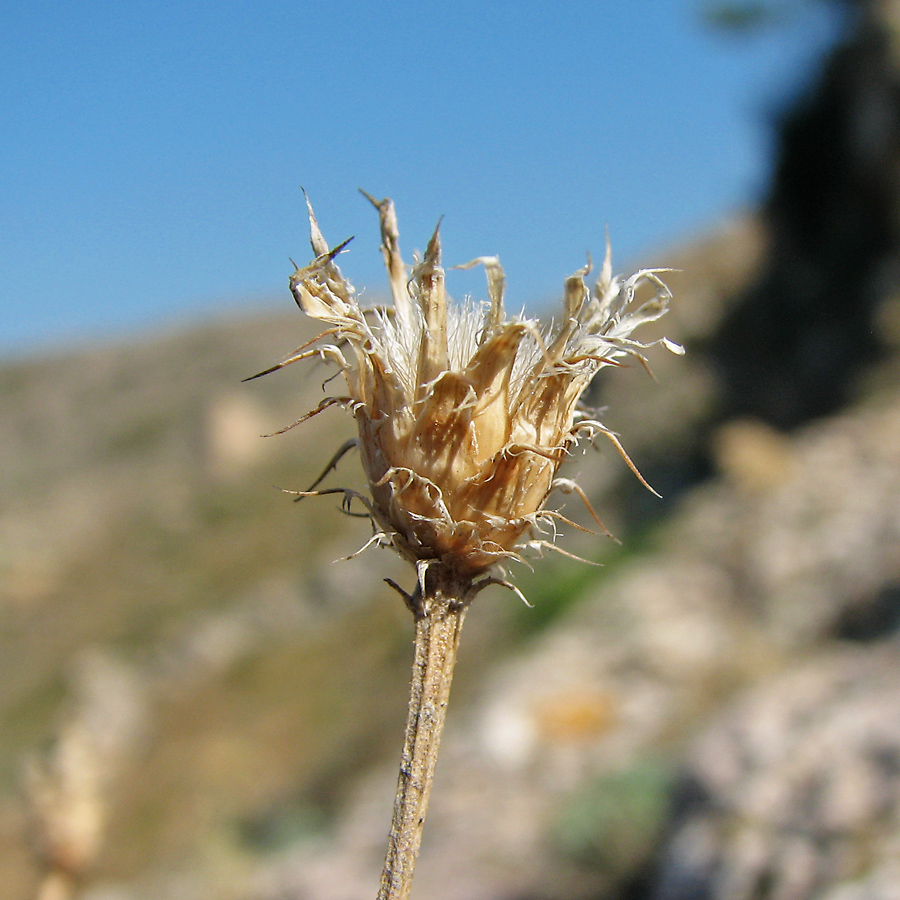
M 690 755 L 654 900 L 896 897 L 898 667 L 894 642 L 836 649 L 715 721 Z

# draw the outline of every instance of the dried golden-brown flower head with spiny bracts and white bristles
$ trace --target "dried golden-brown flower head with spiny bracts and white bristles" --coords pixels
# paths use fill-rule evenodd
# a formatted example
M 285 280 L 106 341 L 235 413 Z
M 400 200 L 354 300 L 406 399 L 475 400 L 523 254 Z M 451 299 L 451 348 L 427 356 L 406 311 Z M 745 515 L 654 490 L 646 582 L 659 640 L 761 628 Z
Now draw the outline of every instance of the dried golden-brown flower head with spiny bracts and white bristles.
M 580 400 L 602 367 L 624 356 L 644 361 L 648 345 L 631 334 L 663 315 L 671 294 L 660 280 L 663 270 L 613 278 L 607 242 L 593 290 L 585 284 L 590 262 L 566 279 L 556 325 L 542 329 L 534 320 L 506 317 L 496 257 L 460 267 L 484 266 L 489 302 L 455 304 L 445 291 L 439 231 L 407 268 L 393 203 L 366 196 L 380 215 L 393 308 L 360 307 L 335 263 L 347 242 L 329 248 L 307 200 L 316 258 L 297 268 L 290 286 L 300 308 L 328 328 L 266 371 L 315 356 L 337 363 L 347 395 L 323 400 L 294 424 L 334 404 L 352 409 L 359 436 L 332 463 L 359 448 L 371 496 L 344 493 L 368 510 L 372 542 L 413 562 L 420 579 L 440 563 L 472 584 L 529 547 L 551 545 L 541 535 L 552 534 L 553 520 L 561 518 L 545 508 L 554 490 L 574 491 L 587 503 L 574 482 L 558 477 L 581 439 L 606 435 L 634 469 L 615 435 Z M 642 283 L 653 296 L 637 303 Z

